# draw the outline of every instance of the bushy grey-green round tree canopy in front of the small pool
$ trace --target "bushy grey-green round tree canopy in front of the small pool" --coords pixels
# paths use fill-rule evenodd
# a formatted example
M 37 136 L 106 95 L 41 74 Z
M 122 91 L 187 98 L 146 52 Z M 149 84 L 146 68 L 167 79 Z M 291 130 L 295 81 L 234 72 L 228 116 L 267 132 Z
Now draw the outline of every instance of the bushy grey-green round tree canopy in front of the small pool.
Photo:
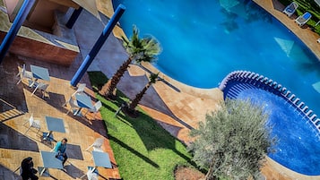
M 227 99 L 190 135 L 193 160 L 208 169 L 206 179 L 256 177 L 276 142 L 262 107 L 249 100 Z

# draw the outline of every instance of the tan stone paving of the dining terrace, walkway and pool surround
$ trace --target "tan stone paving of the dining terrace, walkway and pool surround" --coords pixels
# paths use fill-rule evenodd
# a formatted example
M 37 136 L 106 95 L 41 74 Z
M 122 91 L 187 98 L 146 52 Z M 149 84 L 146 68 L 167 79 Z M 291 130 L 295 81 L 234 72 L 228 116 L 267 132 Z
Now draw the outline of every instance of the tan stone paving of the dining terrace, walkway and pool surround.
M 107 1 L 109 3 L 109 1 Z M 294 32 L 302 33 L 306 39 L 305 42 L 315 42 L 316 35 L 310 34 L 310 30 L 301 29 L 293 20 L 281 13 L 274 7 L 274 0 L 255 0 L 265 9 L 275 14 L 283 23 L 289 24 L 290 29 Z M 278 4 L 279 5 L 279 4 Z M 281 7 L 279 7 L 281 8 Z M 85 22 L 85 23 L 84 23 Z M 20 166 L 21 160 L 28 156 L 34 159 L 35 167 L 43 165 L 40 158 L 39 150 L 51 150 L 53 144 L 41 141 L 41 133 L 33 130 L 24 134 L 27 127 L 22 124 L 29 119 L 33 113 L 35 119 L 40 120 L 41 131 L 47 132 L 45 116 L 61 117 L 65 121 L 65 133 L 54 133 L 55 139 L 60 140 L 63 137 L 68 138 L 69 160 L 66 163 L 66 172 L 61 170 L 49 169 L 50 177 L 41 177 L 40 179 L 77 179 L 87 171 L 87 166 L 92 166 L 91 153 L 85 151 L 87 147 L 97 137 L 104 137 L 104 150 L 110 155 L 113 163 L 112 169 L 99 168 L 99 179 L 119 178 L 116 160 L 108 143 L 108 137 L 105 124 L 100 120 L 93 120 L 91 114 L 87 118 L 65 115 L 68 108 L 62 107 L 65 99 L 70 97 L 74 89 L 70 87 L 70 80 L 75 71 L 80 66 L 82 59 L 91 50 L 92 45 L 98 39 L 99 33 L 103 30 L 107 19 L 103 18 L 103 23 L 95 19 L 91 14 L 83 11 L 80 18 L 74 25 L 74 33 L 78 44 L 80 45 L 81 54 L 77 56 L 70 67 L 59 66 L 56 64 L 47 64 L 34 59 L 28 59 L 22 56 L 6 56 L 4 62 L 0 64 L 0 180 L 11 180 L 18 176 L 13 172 Z M 302 30 L 302 31 L 301 31 Z M 306 43 L 307 44 L 307 43 Z M 317 47 L 316 47 L 317 46 Z M 315 44 L 316 49 L 312 49 L 317 56 L 320 54 L 320 45 Z M 120 41 L 111 35 L 105 45 L 95 58 L 89 71 L 101 71 L 110 77 L 119 64 L 125 61 L 127 55 L 121 46 Z M 49 97 L 41 99 L 40 94 L 30 96 L 31 90 L 25 82 L 16 85 L 18 78 L 17 66 L 27 64 L 30 70 L 30 64 L 35 64 L 48 68 L 50 73 Z M 156 71 L 151 65 L 144 64 L 151 71 Z M 146 72 L 135 65 L 131 68 L 123 80 L 120 82 L 118 89 L 125 92 L 129 98 L 140 91 L 147 83 Z M 159 124 L 161 124 L 169 133 L 175 135 L 179 140 L 190 141 L 188 139 L 189 129 L 196 127 L 198 121 L 204 119 L 207 112 L 215 109 L 215 105 L 222 99 L 220 90 L 201 90 L 188 87 L 177 81 L 163 76 L 166 81 L 157 82 L 150 90 L 147 91 L 142 101 L 142 107 L 147 111 Z M 88 85 L 86 93 L 94 101 L 94 95 L 90 87 L 88 77 L 85 75 L 82 81 Z M 91 120 L 87 120 L 91 119 Z M 301 176 L 289 169 L 282 167 L 278 163 L 268 159 L 263 169 L 264 176 L 267 179 L 318 179 L 319 176 Z M 85 178 L 84 178 L 85 179 Z

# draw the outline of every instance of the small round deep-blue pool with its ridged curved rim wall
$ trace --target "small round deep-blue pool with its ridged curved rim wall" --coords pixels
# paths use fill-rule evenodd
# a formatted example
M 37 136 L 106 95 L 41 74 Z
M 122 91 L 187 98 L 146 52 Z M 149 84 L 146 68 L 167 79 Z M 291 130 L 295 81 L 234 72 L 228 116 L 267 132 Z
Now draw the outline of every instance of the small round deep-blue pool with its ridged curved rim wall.
M 270 158 L 298 173 L 320 175 L 320 120 L 290 90 L 246 71 L 229 73 L 219 88 L 225 99 L 250 99 L 270 114 L 272 136 L 280 139 L 276 153 L 268 155 Z

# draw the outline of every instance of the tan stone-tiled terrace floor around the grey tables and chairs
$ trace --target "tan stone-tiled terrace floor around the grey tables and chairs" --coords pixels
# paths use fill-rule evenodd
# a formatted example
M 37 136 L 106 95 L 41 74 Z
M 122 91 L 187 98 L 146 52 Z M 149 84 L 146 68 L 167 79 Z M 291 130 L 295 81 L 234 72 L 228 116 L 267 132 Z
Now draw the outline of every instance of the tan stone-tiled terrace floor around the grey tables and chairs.
M 79 60 L 81 60 L 79 58 Z M 19 81 L 18 65 L 26 64 L 27 70 L 30 71 L 30 64 L 39 65 L 48 68 L 50 81 L 48 87 L 48 96 L 42 99 L 42 94 L 37 91 L 31 96 L 32 89 L 28 86 L 28 81 Z M 70 87 L 70 79 L 74 75 L 75 67 L 63 67 L 55 64 L 47 64 L 37 60 L 28 59 L 20 56 L 9 55 L 4 58 L 0 64 L 0 78 L 6 81 L 0 81 L 0 179 L 15 179 L 18 172 L 13 172 L 20 166 L 22 159 L 32 157 L 35 167 L 43 166 L 40 158 L 40 150 L 52 150 L 56 141 L 66 137 L 68 139 L 67 154 L 69 159 L 66 163 L 66 172 L 49 169 L 51 177 L 40 177 L 40 179 L 76 179 L 84 175 L 88 166 L 93 166 L 91 152 L 85 151 L 93 141 L 98 137 L 103 137 L 105 143 L 103 150 L 107 151 L 111 162 L 112 169 L 99 167 L 99 179 L 114 178 L 119 179 L 120 175 L 117 169 L 117 162 L 109 146 L 106 126 L 101 121 L 101 116 L 97 115 L 93 119 L 93 114 L 79 117 L 71 113 L 66 115 L 69 107 L 62 107 L 65 100 L 73 93 L 74 89 Z M 86 83 L 85 93 L 87 93 L 92 103 L 96 100 L 91 90 L 88 76 L 82 78 L 82 83 Z M 84 114 L 85 111 L 82 111 Z M 39 120 L 40 131 L 30 128 L 29 123 L 24 124 L 33 114 L 34 119 Z M 48 143 L 42 141 L 42 133 L 48 132 L 45 122 L 45 116 L 54 116 L 64 119 L 65 133 L 54 132 L 56 141 Z M 84 177 L 83 179 L 85 179 Z

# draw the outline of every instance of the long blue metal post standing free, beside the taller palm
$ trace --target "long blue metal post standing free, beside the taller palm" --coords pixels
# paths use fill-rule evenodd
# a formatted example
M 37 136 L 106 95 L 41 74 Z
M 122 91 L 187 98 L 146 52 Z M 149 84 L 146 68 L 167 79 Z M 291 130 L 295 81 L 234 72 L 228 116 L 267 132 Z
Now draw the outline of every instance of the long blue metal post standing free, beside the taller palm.
M 108 21 L 107 26 L 102 31 L 99 39 L 92 47 L 90 53 L 85 57 L 84 61 L 82 62 L 81 66 L 79 67 L 78 71 L 74 74 L 73 79 L 70 81 L 70 84 L 72 86 L 76 86 L 77 83 L 82 79 L 83 74 L 87 71 L 88 67 L 92 63 L 93 59 L 97 56 L 99 53 L 100 48 L 104 44 L 104 42 L 108 39 L 109 34 L 113 30 L 113 28 L 116 26 L 117 21 L 119 21 L 122 14 L 125 12 L 125 6 L 123 4 L 119 4 L 117 6 L 116 12 L 111 17 L 110 21 Z

